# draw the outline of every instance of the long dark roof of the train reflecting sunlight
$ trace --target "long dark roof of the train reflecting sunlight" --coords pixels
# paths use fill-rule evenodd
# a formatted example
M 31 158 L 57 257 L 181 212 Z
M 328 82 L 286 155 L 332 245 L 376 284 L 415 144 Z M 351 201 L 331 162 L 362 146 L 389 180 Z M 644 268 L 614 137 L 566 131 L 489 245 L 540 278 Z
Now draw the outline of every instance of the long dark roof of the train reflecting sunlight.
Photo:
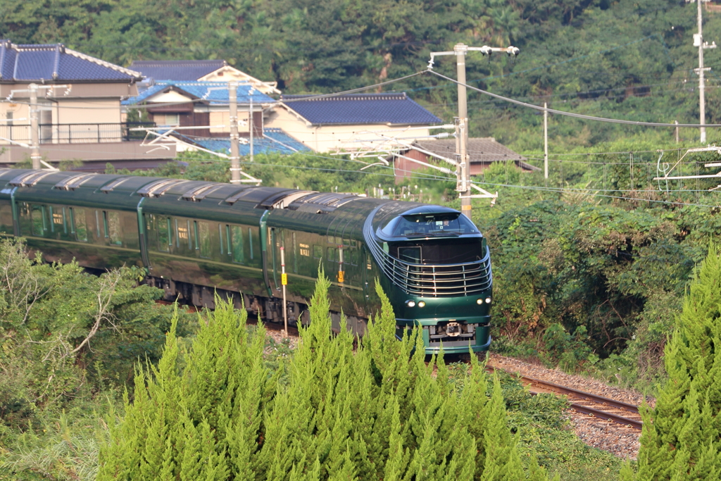
M 92 174 L 32 169 L 0 169 L 0 198 L 25 202 L 71 203 L 78 206 L 135 210 L 174 216 L 255 223 L 265 211 L 268 221 L 288 227 L 360 235 L 368 215 L 373 231 L 409 211 L 435 209 L 429 204 L 365 198 L 350 193 L 322 193 L 284 187 L 253 187 L 203 180 Z M 330 216 L 318 214 L 333 214 Z

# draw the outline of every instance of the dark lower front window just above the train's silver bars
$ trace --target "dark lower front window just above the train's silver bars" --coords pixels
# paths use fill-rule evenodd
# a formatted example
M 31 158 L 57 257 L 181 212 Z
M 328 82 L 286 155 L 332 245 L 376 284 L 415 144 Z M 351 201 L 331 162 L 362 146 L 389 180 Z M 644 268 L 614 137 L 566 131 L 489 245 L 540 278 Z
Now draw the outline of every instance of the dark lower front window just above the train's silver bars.
M 404 242 L 389 246 L 389 254 L 409 264 L 463 264 L 485 257 L 485 239 L 446 239 Z

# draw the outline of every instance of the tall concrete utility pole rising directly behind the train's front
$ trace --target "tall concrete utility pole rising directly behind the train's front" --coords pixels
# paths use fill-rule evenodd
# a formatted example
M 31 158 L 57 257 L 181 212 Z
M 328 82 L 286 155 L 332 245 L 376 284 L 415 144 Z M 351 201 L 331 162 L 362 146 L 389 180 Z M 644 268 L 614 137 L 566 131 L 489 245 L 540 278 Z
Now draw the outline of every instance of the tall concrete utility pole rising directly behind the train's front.
M 510 46 L 505 48 L 489 47 L 483 45 L 482 47 L 469 47 L 464 43 L 457 43 L 453 51 L 448 52 L 431 52 L 430 62 L 428 62 L 428 69 L 433 68 L 433 61 L 436 56 L 442 55 L 454 55 L 456 56 L 456 73 L 458 75 L 458 120 L 456 128 L 456 155 L 459 159 L 459 165 L 457 170 L 458 183 L 456 190 L 459 192 L 461 197 L 461 212 L 471 218 L 471 199 L 474 197 L 471 195 L 471 164 L 468 155 L 468 103 L 466 97 L 466 53 L 469 51 L 477 51 L 483 55 L 490 56 L 493 52 L 505 52 L 508 56 L 517 56 L 521 53 L 516 47 Z M 485 191 L 484 191 L 485 192 Z M 481 197 L 488 197 L 488 195 L 481 195 Z

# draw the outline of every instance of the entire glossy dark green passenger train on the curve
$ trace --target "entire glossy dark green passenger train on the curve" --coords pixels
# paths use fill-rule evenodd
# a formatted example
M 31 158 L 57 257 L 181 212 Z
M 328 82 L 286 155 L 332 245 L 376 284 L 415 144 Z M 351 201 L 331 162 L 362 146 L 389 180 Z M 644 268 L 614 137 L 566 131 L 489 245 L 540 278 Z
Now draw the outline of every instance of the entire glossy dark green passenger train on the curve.
M 309 321 L 322 265 L 333 327 L 363 335 L 379 279 L 397 335 L 423 328 L 427 353 L 487 350 L 492 273 L 466 216 L 422 203 L 281 187 L 132 175 L 0 169 L 0 234 L 45 260 L 146 269 L 167 299 L 213 307 L 214 294 L 270 322 Z M 281 250 L 287 273 L 283 302 Z

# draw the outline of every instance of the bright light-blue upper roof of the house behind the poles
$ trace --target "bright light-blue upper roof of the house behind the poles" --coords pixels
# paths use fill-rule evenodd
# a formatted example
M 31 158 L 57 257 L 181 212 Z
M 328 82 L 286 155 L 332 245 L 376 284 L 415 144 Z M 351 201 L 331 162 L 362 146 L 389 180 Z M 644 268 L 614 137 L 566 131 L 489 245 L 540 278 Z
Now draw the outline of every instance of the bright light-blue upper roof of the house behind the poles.
M 130 97 L 127 100 L 123 100 L 123 105 L 135 105 L 140 102 L 144 102 L 150 97 L 169 89 L 177 89 L 181 92 L 185 92 L 190 97 L 197 99 L 208 100 L 212 104 L 227 104 L 228 103 L 228 84 L 227 82 L 220 81 L 159 81 L 154 85 L 151 85 L 147 89 L 143 90 L 136 97 Z M 250 102 L 251 94 L 250 89 L 252 88 L 249 84 L 239 84 L 237 89 L 238 102 L 248 103 Z M 252 93 L 253 102 L 257 103 L 269 103 L 275 102 L 273 98 L 268 97 L 266 94 L 262 94 L 257 90 Z

